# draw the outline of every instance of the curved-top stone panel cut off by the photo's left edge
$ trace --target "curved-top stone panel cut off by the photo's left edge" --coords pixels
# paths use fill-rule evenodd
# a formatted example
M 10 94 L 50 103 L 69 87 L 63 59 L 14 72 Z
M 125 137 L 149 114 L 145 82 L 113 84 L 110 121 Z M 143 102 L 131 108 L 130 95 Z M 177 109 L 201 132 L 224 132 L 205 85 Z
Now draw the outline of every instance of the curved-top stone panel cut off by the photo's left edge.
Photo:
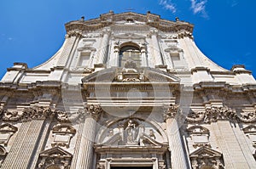
M 8 123 L 0 126 L 0 144 L 7 146 L 9 138 L 18 131 L 18 128 Z

